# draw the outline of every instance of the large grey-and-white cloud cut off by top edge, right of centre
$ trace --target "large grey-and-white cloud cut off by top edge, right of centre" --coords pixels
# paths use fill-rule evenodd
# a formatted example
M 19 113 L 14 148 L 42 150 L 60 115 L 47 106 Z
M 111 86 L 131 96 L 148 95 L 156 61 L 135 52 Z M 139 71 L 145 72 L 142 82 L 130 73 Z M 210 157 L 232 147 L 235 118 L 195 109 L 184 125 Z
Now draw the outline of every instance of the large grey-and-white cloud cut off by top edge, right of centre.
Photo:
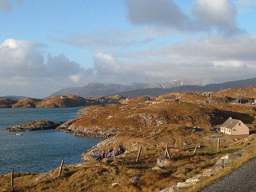
M 178 31 L 236 33 L 236 6 L 228 0 L 197 0 L 184 14 L 172 0 L 127 0 L 128 19 L 136 25 L 153 25 Z

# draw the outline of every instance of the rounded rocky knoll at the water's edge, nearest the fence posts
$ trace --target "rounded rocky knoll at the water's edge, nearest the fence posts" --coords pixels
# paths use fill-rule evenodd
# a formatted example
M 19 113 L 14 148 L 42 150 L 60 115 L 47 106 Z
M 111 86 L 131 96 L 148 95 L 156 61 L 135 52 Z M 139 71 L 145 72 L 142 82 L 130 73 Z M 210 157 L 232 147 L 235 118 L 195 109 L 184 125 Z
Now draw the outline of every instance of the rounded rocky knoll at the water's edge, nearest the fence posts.
M 84 160 L 103 160 L 105 158 L 114 158 L 122 153 L 124 153 L 122 143 L 104 140 L 88 149 L 82 156 Z

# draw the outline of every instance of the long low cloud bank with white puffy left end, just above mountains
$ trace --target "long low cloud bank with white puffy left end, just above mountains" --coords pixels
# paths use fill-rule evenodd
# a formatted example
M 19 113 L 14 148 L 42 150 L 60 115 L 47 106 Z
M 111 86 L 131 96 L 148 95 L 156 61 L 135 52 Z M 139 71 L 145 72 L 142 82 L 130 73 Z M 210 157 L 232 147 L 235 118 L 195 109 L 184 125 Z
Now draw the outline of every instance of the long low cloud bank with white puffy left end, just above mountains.
M 241 60 L 118 62 L 117 58 L 109 54 L 97 54 L 94 56 L 94 68 L 98 71 L 96 78 L 104 83 L 168 82 L 180 78 L 193 81 L 212 78 L 215 82 L 224 82 L 243 79 L 244 74 L 254 77 L 256 64 Z

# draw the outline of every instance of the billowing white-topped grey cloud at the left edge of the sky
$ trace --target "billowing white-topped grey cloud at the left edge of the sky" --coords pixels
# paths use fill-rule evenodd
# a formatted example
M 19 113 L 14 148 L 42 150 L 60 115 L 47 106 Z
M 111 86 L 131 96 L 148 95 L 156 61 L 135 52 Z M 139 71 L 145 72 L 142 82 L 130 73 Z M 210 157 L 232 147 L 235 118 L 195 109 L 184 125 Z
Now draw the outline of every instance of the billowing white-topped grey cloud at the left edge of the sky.
M 92 72 L 63 54 L 48 54 L 47 60 L 44 60 L 41 49 L 45 47 L 28 40 L 4 41 L 0 45 L 0 92 L 15 88 L 24 96 L 31 90 L 34 94 L 48 96 L 56 90 L 75 85 L 80 76 Z

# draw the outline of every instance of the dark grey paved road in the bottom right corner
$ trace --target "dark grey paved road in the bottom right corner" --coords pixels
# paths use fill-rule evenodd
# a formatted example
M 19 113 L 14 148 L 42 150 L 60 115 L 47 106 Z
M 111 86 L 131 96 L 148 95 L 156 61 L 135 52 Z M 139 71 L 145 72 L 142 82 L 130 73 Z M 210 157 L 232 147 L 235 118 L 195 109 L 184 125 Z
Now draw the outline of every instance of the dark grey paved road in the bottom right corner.
M 256 192 L 256 158 L 198 192 Z

